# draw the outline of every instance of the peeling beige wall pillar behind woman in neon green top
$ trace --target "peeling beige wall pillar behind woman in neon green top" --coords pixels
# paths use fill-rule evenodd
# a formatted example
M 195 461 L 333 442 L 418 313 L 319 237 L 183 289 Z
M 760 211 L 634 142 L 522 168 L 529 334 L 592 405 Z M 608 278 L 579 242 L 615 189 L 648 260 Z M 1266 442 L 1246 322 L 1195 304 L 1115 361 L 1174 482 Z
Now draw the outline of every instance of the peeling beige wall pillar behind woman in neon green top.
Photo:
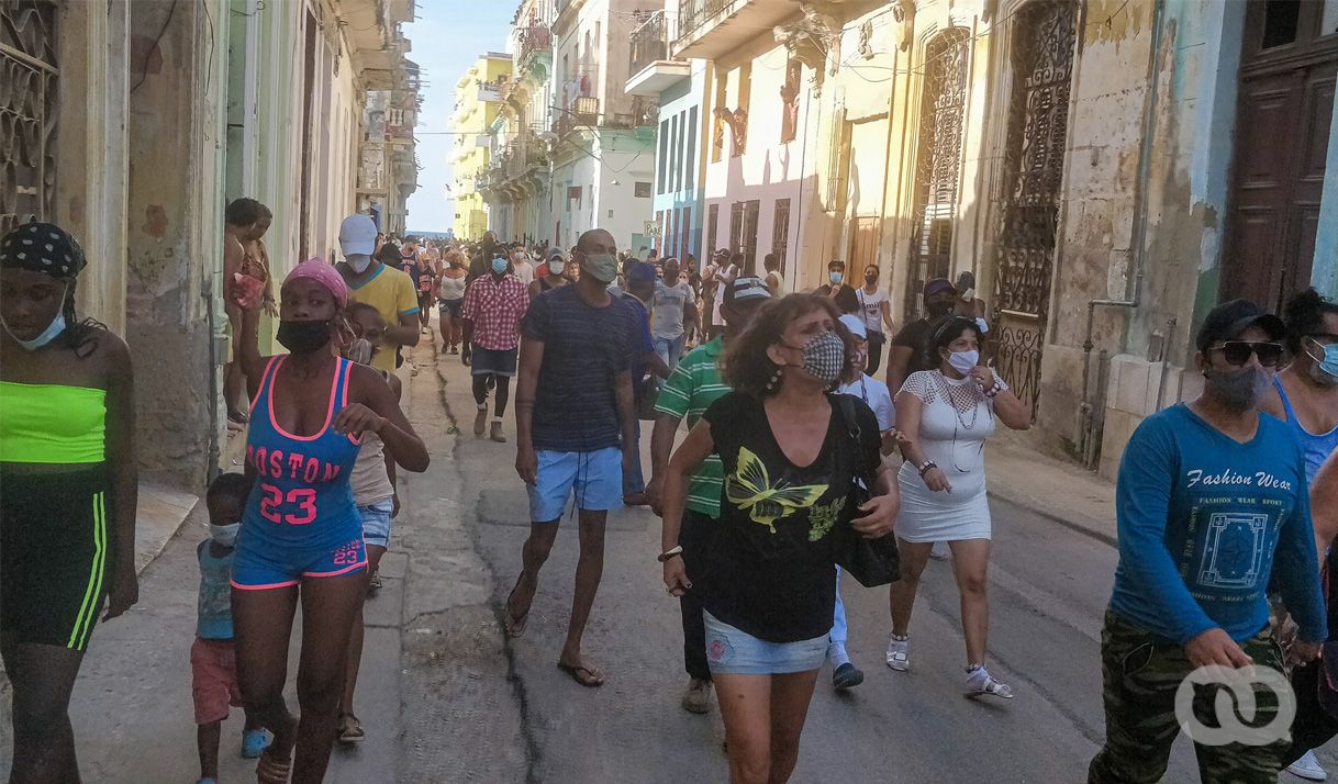
M 205 297 L 221 248 L 223 102 L 213 58 L 226 51 L 225 40 L 201 43 L 209 28 L 226 35 L 225 13 L 217 0 L 130 9 L 126 336 L 139 455 L 150 478 L 195 491 L 209 474 L 217 404 Z

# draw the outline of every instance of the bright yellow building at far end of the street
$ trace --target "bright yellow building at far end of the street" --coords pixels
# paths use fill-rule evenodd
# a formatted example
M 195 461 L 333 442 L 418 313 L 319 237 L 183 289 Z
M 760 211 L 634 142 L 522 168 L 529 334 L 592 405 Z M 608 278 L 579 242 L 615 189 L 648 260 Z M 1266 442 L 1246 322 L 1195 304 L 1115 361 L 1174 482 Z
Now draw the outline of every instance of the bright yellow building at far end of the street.
M 511 55 L 487 52 L 455 83 L 455 235 L 478 238 L 488 230 L 487 205 L 475 179 L 488 166 L 488 128 L 502 106 L 502 87 L 511 80 Z

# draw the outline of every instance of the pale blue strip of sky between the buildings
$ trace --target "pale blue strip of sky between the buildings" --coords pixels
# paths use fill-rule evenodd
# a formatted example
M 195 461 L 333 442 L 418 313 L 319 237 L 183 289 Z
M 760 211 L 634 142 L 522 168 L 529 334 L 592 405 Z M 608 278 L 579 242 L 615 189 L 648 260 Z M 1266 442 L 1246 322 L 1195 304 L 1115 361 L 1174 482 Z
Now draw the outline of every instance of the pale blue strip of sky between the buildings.
M 518 3 L 512 0 L 416 0 L 417 12 L 405 35 L 409 59 L 423 68 L 423 111 L 417 135 L 419 189 L 409 197 L 411 231 L 446 231 L 455 218 L 448 187 L 455 187 L 448 158 L 455 136 L 455 83 L 483 52 L 500 52 Z

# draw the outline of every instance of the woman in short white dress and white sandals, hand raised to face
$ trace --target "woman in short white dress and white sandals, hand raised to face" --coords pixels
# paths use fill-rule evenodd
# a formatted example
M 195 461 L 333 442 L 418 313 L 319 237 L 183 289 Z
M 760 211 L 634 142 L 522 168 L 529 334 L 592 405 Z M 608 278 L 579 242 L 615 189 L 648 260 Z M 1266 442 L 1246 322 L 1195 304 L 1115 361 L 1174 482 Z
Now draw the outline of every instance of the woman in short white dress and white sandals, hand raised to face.
M 929 334 L 930 353 L 939 357 L 939 367 L 911 373 L 896 395 L 896 425 L 910 442 L 902 447 L 906 462 L 898 475 L 902 570 L 891 587 L 887 666 L 910 666 L 915 589 L 934 542 L 947 542 L 962 593 L 966 694 L 1010 698 L 1008 684 L 995 681 L 985 669 L 990 614 L 985 593 L 990 559 L 985 439 L 994 433 L 995 419 L 1009 428 L 1026 429 L 1032 412 L 998 373 L 979 364 L 983 336 L 973 318 L 950 316 Z

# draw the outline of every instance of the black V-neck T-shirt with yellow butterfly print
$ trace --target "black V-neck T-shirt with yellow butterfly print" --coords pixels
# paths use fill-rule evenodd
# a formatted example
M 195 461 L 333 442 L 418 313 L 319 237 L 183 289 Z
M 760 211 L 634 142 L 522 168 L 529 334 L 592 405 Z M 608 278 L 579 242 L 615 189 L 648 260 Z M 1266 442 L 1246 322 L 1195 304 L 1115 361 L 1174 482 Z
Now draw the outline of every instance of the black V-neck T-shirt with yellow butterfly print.
M 828 396 L 828 400 L 835 397 Z M 864 466 L 879 463 L 878 420 L 858 397 Z M 725 470 L 720 526 L 693 586 L 706 610 L 768 642 L 826 635 L 836 602 L 835 526 L 848 524 L 855 450 L 835 400 L 818 458 L 805 467 L 780 450 L 760 400 L 731 392 L 702 416 Z

